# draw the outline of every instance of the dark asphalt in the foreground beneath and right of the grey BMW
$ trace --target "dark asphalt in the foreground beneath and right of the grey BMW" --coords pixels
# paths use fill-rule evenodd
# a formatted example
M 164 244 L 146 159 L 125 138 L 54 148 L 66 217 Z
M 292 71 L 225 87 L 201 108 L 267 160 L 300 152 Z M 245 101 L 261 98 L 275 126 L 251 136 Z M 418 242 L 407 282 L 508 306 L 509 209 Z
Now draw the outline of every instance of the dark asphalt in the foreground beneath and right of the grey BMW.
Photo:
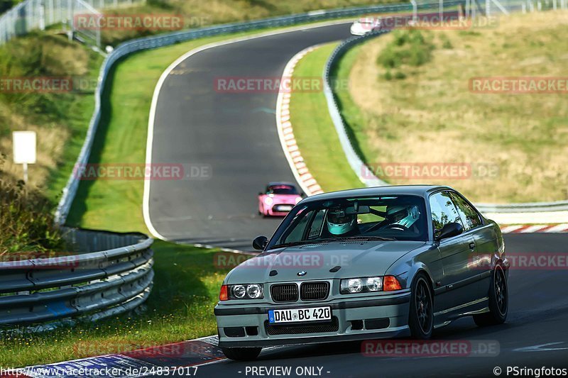
M 546 253 L 557 256 L 557 262 L 566 259 L 565 234 L 511 234 L 505 239 L 511 257 Z M 361 353 L 361 342 L 322 343 L 265 349 L 253 362 L 222 360 L 201 365 L 197 376 L 278 377 L 278 371 L 269 370 L 271 367 L 290 367 L 286 377 L 537 377 L 535 373 L 507 374 L 507 368 L 516 367 L 518 372 L 522 368 L 568 368 L 566 265 L 558 269 L 512 267 L 508 285 L 505 324 L 479 328 L 467 317 L 438 328 L 432 335 L 432 340 L 461 340 L 459 344 L 486 345 L 496 351 L 488 355 L 477 348 L 484 357 L 474 353 L 467 357 L 368 357 Z M 310 368 L 315 374 L 309 374 Z M 545 377 L 542 372 L 536 374 Z

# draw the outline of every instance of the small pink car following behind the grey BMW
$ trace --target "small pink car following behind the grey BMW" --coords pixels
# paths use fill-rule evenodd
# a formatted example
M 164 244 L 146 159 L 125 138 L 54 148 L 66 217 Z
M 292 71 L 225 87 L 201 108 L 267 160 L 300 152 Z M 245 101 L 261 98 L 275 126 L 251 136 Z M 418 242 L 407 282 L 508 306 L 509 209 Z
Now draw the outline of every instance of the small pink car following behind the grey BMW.
M 258 193 L 258 213 L 262 216 L 285 216 L 300 201 L 302 195 L 293 184 L 271 182 Z

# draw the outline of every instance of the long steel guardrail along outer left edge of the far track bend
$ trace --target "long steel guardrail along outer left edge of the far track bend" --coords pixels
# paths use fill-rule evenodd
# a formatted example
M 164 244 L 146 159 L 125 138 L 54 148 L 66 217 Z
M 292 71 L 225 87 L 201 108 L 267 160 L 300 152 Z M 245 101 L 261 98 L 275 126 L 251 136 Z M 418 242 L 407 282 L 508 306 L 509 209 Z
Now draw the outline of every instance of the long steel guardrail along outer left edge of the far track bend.
M 457 6 L 459 4 L 464 4 L 464 1 L 463 0 L 444 1 L 444 7 Z M 438 7 L 439 7 L 439 2 L 417 4 L 417 9 L 438 9 Z M 247 30 L 260 30 L 263 28 L 293 26 L 301 23 L 333 20 L 337 18 L 346 18 L 351 16 L 361 16 L 366 13 L 389 13 L 389 12 L 400 12 L 400 11 L 413 11 L 413 6 L 410 3 L 405 3 L 405 4 L 392 4 L 392 5 L 381 5 L 381 6 L 359 6 L 359 7 L 352 7 L 346 9 L 334 9 L 329 11 L 312 11 L 293 16 L 266 18 L 264 20 L 259 20 L 259 21 L 228 23 L 219 26 L 210 26 L 207 28 L 177 31 L 173 33 L 166 33 L 163 35 L 137 38 L 122 43 L 113 52 L 107 55 L 99 72 L 97 90 L 95 91 L 94 94 L 95 109 L 93 116 L 91 118 L 91 122 L 89 123 L 87 136 L 84 140 L 82 150 L 80 152 L 79 157 L 77 158 L 77 166 L 84 165 L 89 160 L 89 155 L 91 152 L 94 135 L 95 133 L 97 133 L 97 126 L 99 125 L 99 120 L 101 116 L 100 113 L 101 94 L 102 94 L 102 89 L 104 88 L 104 84 L 107 80 L 107 74 L 109 74 L 112 65 L 114 65 L 114 63 L 117 60 L 121 59 L 122 57 L 125 57 L 126 55 L 141 50 L 160 48 L 167 45 L 173 45 L 174 43 L 180 43 L 186 40 L 210 37 L 213 35 L 238 33 Z M 77 192 L 78 187 L 79 187 L 79 180 L 73 174 L 71 174 L 69 180 L 67 181 L 65 189 L 63 189 L 62 197 L 58 204 L 58 209 L 55 212 L 55 220 L 57 223 L 59 224 L 65 223 L 65 220 L 67 219 L 67 214 L 70 211 L 71 204 L 73 199 L 75 198 L 75 194 Z

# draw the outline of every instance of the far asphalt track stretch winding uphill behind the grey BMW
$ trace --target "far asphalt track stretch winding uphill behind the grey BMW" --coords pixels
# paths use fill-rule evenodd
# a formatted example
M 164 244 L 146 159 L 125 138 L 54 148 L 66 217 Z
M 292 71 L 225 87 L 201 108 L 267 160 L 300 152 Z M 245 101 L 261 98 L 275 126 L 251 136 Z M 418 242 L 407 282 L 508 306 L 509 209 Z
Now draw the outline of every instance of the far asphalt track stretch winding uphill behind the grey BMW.
M 280 145 L 276 91 L 227 93 L 225 78 L 280 78 L 288 60 L 318 43 L 349 37 L 349 23 L 245 40 L 197 52 L 163 83 L 152 162 L 204 166 L 210 175 L 151 180 L 149 214 L 169 240 L 251 250 L 281 218 L 259 216 L 256 196 L 271 181 L 295 182 Z

